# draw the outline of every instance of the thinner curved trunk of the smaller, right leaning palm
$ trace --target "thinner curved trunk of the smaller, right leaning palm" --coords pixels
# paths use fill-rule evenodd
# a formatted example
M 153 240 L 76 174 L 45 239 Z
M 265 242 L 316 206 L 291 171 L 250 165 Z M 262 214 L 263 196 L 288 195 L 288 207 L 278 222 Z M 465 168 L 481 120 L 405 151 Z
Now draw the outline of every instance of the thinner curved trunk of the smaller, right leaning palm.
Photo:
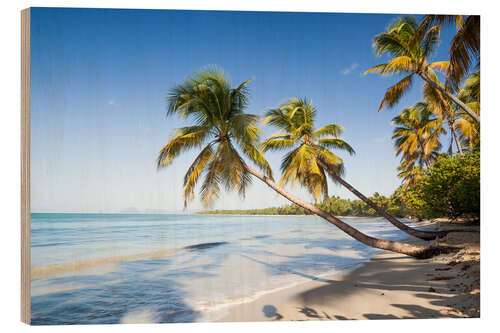
M 379 213 L 381 216 L 386 218 L 396 228 L 406 232 L 407 234 L 410 234 L 414 237 L 424 239 L 424 240 L 433 240 L 433 239 L 436 239 L 436 237 L 444 237 L 448 234 L 447 231 L 422 231 L 422 230 L 413 229 L 413 228 L 407 226 L 406 224 L 399 221 L 397 218 L 395 218 L 391 214 L 384 211 L 379 205 L 377 205 L 376 203 L 374 203 L 373 201 L 371 201 L 370 199 L 365 197 L 362 193 L 360 193 L 358 190 L 356 190 L 354 187 L 352 187 L 351 184 L 349 184 L 348 182 L 346 182 L 345 180 L 340 178 L 335 172 L 331 171 L 330 168 L 328 168 L 328 166 L 325 163 L 323 163 L 323 161 L 318 159 L 318 163 L 323 169 L 325 169 L 328 172 L 328 174 L 333 179 L 335 179 L 335 181 L 342 184 L 345 188 L 347 188 L 349 191 L 351 191 L 355 196 L 360 198 L 364 203 L 366 203 L 371 208 L 375 209 L 375 211 L 377 213 Z

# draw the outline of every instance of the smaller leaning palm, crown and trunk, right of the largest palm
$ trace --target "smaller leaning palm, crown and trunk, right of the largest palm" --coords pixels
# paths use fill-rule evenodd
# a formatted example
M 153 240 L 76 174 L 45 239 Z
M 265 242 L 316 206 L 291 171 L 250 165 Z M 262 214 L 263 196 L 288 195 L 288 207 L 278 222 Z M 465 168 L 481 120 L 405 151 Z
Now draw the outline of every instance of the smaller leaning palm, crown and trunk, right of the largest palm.
M 275 126 L 280 132 L 262 143 L 264 152 L 289 151 L 281 163 L 280 185 L 289 182 L 299 183 L 317 199 L 321 195 L 328 194 L 325 177 L 325 173 L 328 173 L 334 182 L 345 186 L 381 216 L 408 234 L 426 240 L 444 235 L 407 226 L 342 179 L 343 161 L 330 149 L 344 150 L 350 154 L 354 154 L 354 150 L 347 142 L 340 139 L 343 130 L 341 126 L 329 124 L 316 129 L 314 127 L 316 113 L 316 108 L 305 98 L 292 98 L 278 108 L 266 112 L 264 124 Z

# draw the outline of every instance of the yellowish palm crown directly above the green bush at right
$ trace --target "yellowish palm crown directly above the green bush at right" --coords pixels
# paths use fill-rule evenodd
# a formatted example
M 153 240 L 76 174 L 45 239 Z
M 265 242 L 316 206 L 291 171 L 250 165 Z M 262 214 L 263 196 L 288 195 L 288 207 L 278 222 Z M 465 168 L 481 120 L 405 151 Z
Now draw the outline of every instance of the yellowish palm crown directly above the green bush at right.
M 401 111 L 392 124 L 396 156 L 406 162 L 403 169 L 415 164 L 429 168 L 441 148 L 439 136 L 445 133 L 441 119 L 432 117 L 427 103 L 419 102 Z

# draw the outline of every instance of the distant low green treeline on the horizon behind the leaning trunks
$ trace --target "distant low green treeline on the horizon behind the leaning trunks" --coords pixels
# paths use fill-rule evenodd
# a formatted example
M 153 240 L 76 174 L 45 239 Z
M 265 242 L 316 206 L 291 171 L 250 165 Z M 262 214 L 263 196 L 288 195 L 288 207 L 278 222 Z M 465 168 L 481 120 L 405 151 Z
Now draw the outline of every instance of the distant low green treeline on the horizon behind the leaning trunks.
M 396 191 L 390 197 L 375 194 L 370 199 L 390 214 L 397 217 L 406 217 L 411 215 L 406 206 L 399 199 L 399 191 Z M 368 207 L 361 200 L 342 199 L 338 196 L 326 198 L 320 203 L 316 203 L 318 208 L 337 216 L 360 216 L 373 217 L 378 216 L 377 212 Z M 202 215 L 312 215 L 310 211 L 295 204 L 280 207 L 268 207 L 260 209 L 216 209 L 197 212 Z

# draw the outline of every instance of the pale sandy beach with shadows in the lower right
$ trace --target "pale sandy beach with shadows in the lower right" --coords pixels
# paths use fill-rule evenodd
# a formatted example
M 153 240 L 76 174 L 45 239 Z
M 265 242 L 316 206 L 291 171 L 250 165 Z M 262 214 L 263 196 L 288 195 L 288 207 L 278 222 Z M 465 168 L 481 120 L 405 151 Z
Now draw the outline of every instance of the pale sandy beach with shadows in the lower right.
M 479 225 L 425 222 L 421 226 L 466 229 L 440 243 L 458 253 L 417 260 L 383 252 L 362 267 L 319 278 L 235 305 L 222 322 L 266 320 L 347 320 L 463 318 L 480 316 Z M 407 241 L 424 243 L 415 238 Z

